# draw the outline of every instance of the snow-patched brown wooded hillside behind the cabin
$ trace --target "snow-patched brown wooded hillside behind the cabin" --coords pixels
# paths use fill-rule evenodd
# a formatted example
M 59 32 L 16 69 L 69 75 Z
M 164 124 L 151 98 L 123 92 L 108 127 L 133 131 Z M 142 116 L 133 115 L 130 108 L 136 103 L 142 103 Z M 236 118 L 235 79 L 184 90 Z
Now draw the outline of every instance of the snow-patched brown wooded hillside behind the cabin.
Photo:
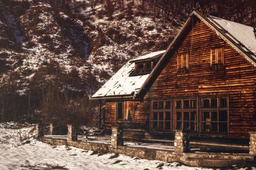
M 193 10 L 256 27 L 256 0 L 1 0 L 0 121 L 94 125 L 90 96 Z

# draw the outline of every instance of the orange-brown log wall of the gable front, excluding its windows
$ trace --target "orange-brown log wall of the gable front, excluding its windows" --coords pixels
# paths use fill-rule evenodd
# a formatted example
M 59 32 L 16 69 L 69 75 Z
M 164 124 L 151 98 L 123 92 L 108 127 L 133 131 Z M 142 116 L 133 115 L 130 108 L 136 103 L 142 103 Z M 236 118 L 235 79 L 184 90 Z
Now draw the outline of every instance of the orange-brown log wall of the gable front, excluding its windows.
M 199 99 L 228 95 L 229 134 L 216 137 L 248 138 L 248 131 L 256 129 L 256 67 L 205 23 L 197 19 L 194 24 L 193 31 L 187 33 L 174 55 L 168 56 L 169 61 L 145 97 L 147 100 L 184 96 Z M 216 47 L 224 47 L 224 65 L 210 64 L 210 51 Z M 189 68 L 181 73 L 177 71 L 177 54 L 182 53 L 189 53 Z

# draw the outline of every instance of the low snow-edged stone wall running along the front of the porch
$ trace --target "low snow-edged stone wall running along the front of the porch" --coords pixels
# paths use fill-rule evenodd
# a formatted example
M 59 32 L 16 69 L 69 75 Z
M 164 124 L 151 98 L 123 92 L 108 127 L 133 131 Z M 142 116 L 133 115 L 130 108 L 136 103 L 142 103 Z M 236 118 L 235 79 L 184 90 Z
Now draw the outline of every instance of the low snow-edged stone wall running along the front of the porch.
M 127 156 L 139 157 L 142 159 L 160 160 L 166 162 L 180 162 L 194 167 L 221 168 L 254 160 L 249 154 L 215 154 L 215 153 L 174 153 L 156 149 L 138 148 L 131 146 L 111 147 L 109 144 L 67 141 L 49 137 L 39 137 L 39 140 L 50 145 L 68 145 L 84 150 L 96 151 L 99 153 L 119 153 Z

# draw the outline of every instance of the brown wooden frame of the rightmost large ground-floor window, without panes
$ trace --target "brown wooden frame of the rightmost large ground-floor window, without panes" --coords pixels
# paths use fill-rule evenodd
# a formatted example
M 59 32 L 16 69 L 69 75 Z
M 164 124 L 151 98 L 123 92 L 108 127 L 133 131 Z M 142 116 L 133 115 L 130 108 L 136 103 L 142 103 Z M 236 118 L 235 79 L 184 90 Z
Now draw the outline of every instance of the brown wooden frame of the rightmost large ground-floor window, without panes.
M 210 99 L 216 99 L 217 98 L 217 108 L 203 108 L 203 99 L 209 99 L 209 105 L 211 105 L 211 100 Z M 219 108 L 219 99 L 221 98 L 226 98 L 226 105 L 227 108 Z M 219 121 L 219 111 L 226 111 L 227 112 L 227 121 Z M 211 117 L 212 112 L 217 112 L 217 121 L 209 121 L 210 123 L 214 122 L 217 123 L 217 133 L 213 131 L 209 131 L 209 133 L 206 133 L 203 131 L 203 123 L 207 123 L 207 121 L 203 121 L 203 113 L 204 112 L 210 112 L 209 117 Z M 219 123 L 227 123 L 227 133 L 221 133 L 218 132 L 219 130 Z M 229 136 L 230 135 L 230 108 L 229 108 L 229 95 L 208 95 L 208 96 L 200 96 L 199 97 L 199 135 L 201 136 Z M 211 127 L 211 124 L 210 124 Z

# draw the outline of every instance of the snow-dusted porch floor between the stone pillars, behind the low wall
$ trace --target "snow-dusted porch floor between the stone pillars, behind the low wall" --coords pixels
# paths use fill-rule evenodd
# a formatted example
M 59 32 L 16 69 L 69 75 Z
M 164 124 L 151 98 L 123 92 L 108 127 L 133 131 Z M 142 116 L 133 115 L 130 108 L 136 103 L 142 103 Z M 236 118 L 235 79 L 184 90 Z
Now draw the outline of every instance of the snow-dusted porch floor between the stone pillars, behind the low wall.
M 55 138 L 55 139 L 67 139 L 67 136 L 60 135 L 46 135 L 44 137 Z M 110 136 L 78 136 L 79 141 L 93 142 L 101 144 L 111 144 Z M 129 147 L 147 148 L 147 149 L 158 149 L 163 151 L 174 151 L 173 141 L 143 141 L 143 142 L 133 142 L 124 139 L 124 145 Z M 193 141 L 190 144 L 191 153 L 222 153 L 222 154 L 248 154 L 249 147 L 244 146 L 228 146 L 229 143 L 225 145 L 204 145 L 200 142 Z

